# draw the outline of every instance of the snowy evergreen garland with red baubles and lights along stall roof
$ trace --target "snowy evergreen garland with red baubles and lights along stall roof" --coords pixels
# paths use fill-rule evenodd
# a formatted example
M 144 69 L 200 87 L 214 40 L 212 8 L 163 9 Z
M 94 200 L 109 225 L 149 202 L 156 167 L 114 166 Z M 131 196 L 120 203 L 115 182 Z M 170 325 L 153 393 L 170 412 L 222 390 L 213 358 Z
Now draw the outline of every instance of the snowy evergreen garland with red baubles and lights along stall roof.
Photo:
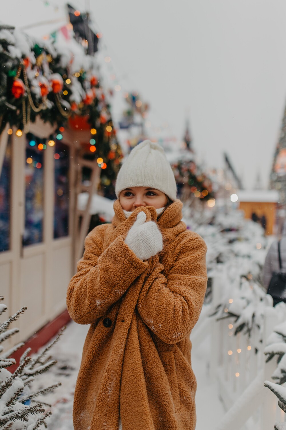
M 97 76 L 94 56 L 87 55 L 84 46 L 75 41 L 72 28 L 66 26 L 66 31 L 69 49 L 63 49 L 63 41 L 57 43 L 55 36 L 34 43 L 15 28 L 0 25 L 0 134 L 8 123 L 18 128 L 17 135 L 22 130 L 28 133 L 30 122 L 40 117 L 57 125 L 50 136 L 54 140 L 67 122 L 75 126 L 77 120 L 84 119 L 91 132 L 86 158 L 98 160 L 102 191 L 112 197 L 114 191 L 109 187 L 115 180 L 122 152 L 110 105 Z M 78 69 L 73 64 L 74 48 Z

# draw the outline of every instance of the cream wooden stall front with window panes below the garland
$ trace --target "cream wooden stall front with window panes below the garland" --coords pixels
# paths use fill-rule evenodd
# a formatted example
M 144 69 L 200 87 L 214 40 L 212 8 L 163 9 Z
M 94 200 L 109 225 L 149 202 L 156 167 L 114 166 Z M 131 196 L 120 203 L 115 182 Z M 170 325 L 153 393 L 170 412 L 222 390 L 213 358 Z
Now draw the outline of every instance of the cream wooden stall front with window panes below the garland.
M 0 252 L 0 294 L 6 297 L 9 313 L 27 306 L 17 322 L 18 337 L 23 339 L 65 309 L 72 276 L 68 166 L 72 148 L 59 141 L 49 146 L 46 130 L 36 126 L 33 135 L 18 137 L 14 130 L 3 138 L 7 136 L 12 151 L 11 237 L 9 249 Z M 46 144 L 44 149 L 39 150 L 39 141 Z

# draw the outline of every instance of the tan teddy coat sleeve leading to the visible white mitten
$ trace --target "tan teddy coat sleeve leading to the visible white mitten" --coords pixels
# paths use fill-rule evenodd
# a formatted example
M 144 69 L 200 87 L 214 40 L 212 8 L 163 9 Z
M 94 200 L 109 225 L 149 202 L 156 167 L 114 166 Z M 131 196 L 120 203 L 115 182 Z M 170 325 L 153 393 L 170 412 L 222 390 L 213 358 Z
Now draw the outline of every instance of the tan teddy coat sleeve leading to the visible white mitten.
M 69 315 L 79 324 L 91 324 L 105 315 L 148 267 L 129 249 L 123 236 L 102 252 L 105 227 L 95 227 L 85 238 L 84 256 L 67 289 Z

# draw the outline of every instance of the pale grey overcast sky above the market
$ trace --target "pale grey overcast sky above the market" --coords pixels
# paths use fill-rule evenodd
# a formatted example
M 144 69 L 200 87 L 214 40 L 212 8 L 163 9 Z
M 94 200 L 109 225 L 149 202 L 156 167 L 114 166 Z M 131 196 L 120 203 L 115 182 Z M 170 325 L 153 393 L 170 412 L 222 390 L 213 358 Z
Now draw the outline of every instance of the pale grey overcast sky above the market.
M 20 28 L 63 18 L 55 6 L 64 1 L 44 3 L 2 1 L 0 19 Z M 226 151 L 246 188 L 257 172 L 268 185 L 286 104 L 285 0 L 70 3 L 83 11 L 90 3 L 118 83 L 151 104 L 154 127 L 167 122 L 181 138 L 188 118 L 200 160 L 222 167 Z

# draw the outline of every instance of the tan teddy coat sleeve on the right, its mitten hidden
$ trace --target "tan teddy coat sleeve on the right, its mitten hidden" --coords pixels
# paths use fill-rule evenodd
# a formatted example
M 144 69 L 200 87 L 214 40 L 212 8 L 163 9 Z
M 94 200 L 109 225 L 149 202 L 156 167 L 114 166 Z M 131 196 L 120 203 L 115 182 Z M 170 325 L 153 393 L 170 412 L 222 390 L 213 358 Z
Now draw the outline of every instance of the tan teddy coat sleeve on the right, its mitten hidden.
M 158 261 L 146 279 L 138 312 L 163 342 L 175 344 L 190 333 L 199 319 L 207 286 L 207 247 L 196 234 L 186 234 L 167 277 Z

